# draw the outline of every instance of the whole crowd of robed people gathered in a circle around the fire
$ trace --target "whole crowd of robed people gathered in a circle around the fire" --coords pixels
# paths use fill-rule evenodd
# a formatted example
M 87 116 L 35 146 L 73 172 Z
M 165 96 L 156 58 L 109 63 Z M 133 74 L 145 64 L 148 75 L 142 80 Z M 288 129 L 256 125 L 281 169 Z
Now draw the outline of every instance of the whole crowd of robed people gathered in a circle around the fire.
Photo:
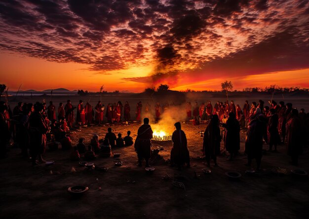
M 155 118 L 160 119 L 161 112 L 167 110 L 169 106 L 168 103 L 165 103 L 161 107 L 157 102 L 154 106 Z M 76 108 L 75 122 L 74 110 Z M 187 121 L 193 121 L 193 125 L 204 121 L 208 123 L 203 135 L 202 146 L 207 165 L 210 165 L 211 159 L 215 166 L 218 165 L 216 157 L 220 154 L 222 139 L 225 149 L 230 155 L 228 160 L 234 159 L 240 149 L 241 129 L 246 130 L 247 165 L 251 166 L 252 160 L 255 159 L 258 170 L 261 167 L 264 142 L 269 144 L 269 151 L 277 151 L 277 145 L 286 142 L 287 152 L 292 158 L 293 165 L 298 164 L 298 156 L 302 153 L 303 146 L 308 145 L 309 114 L 306 114 L 304 109 L 299 112 L 292 107 L 292 103 L 285 105 L 283 101 L 280 101 L 277 105 L 274 100 L 271 100 L 269 107 L 264 105 L 263 100 L 259 100 L 258 103 L 252 102 L 251 106 L 248 101 L 245 101 L 241 108 L 233 101 L 231 103 L 218 101 L 214 107 L 211 101 L 200 105 L 195 102 L 193 107 L 190 102 L 187 102 L 185 110 Z M 105 111 L 105 106 L 101 101 L 98 101 L 97 105 L 92 108 L 89 102 L 83 106 L 83 101 L 80 100 L 77 107 L 74 107 L 68 100 L 65 106 L 60 103 L 57 111 L 58 116 L 56 117 L 56 107 L 52 101 L 47 107 L 45 103 L 19 102 L 13 111 L 5 102 L 0 102 L 0 156 L 2 158 L 6 156 L 6 146 L 13 138 L 21 148 L 24 157 L 29 156 L 28 149 L 30 149 L 33 165 L 37 165 L 37 159 L 39 162 L 44 162 L 42 154 L 47 140 L 61 142 L 63 149 L 71 148 L 71 139 L 66 133 L 75 124 L 77 126 L 93 122 L 100 124 L 103 122 L 104 112 L 108 123 L 119 123 L 121 120 L 129 121 L 131 119 L 130 106 L 127 101 L 124 106 L 120 101 L 117 104 L 109 103 Z M 141 120 L 142 112 L 146 115 L 151 112 L 149 103 L 146 104 L 144 111 L 142 111 L 142 102 L 136 104 L 137 121 Z M 220 125 L 224 127 L 224 133 L 220 130 Z M 175 124 L 175 128 L 176 131 L 172 135 L 171 164 L 175 164 L 179 168 L 185 163 L 190 166 L 186 134 L 181 130 L 179 122 Z M 145 118 L 144 125 L 137 132 L 134 145 L 138 155 L 138 166 L 141 166 L 143 159 L 146 161 L 146 166 L 149 166 L 152 138 L 153 131 L 149 125 L 149 119 Z M 130 146 L 133 143 L 130 131 L 124 138 L 121 133 L 118 133 L 117 138 L 109 128 L 104 140 L 99 140 L 99 136 L 95 135 L 88 148 L 82 146 L 83 139 L 80 138 L 78 145 L 74 147 L 72 159 L 79 157 L 80 153 L 85 153 L 85 157 L 88 154 L 89 159 L 94 157 L 95 153 L 103 153 L 108 156 L 111 155 L 113 147 Z

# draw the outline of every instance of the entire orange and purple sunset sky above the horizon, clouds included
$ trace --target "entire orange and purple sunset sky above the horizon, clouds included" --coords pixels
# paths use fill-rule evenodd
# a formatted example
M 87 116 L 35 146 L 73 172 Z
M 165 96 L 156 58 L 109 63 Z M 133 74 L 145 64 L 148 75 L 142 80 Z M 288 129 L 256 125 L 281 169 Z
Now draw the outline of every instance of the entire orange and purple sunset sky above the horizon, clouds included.
M 309 88 L 309 0 L 1 0 L 9 90 Z

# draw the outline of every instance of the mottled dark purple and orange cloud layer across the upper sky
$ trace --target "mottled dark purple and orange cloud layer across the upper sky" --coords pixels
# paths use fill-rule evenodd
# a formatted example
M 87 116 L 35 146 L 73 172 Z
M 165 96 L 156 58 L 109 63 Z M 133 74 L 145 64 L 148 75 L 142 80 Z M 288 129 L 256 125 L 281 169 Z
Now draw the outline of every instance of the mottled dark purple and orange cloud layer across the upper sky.
M 0 50 L 154 85 L 309 68 L 308 30 L 309 0 L 0 1 Z

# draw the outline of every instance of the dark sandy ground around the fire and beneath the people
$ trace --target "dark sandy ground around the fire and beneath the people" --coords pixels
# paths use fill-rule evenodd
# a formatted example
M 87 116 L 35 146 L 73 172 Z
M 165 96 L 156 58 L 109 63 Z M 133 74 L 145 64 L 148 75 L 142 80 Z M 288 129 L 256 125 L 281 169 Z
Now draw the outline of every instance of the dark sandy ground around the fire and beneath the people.
M 171 142 L 153 143 L 153 148 L 164 147 L 159 152 L 164 160 L 156 159 L 152 164 L 153 175 L 146 174 L 145 163 L 142 168 L 135 165 L 137 157 L 132 146 L 113 149 L 121 153 L 121 167 L 115 167 L 113 157 L 94 161 L 96 166 L 108 167 L 106 173 L 79 167 L 78 162 L 70 161 L 70 151 L 62 150 L 46 151 L 44 158 L 55 161 L 54 165 L 32 167 L 21 158 L 19 148 L 11 148 L 9 158 L 0 160 L 1 218 L 309 218 L 308 179 L 296 180 L 290 175 L 295 167 L 289 165 L 285 145 L 278 146 L 278 153 L 263 156 L 262 173 L 248 176 L 241 133 L 240 155 L 229 162 L 222 154 L 219 167 L 212 167 L 212 174 L 204 175 L 198 131 L 204 131 L 206 124 L 182 126 L 192 167 L 178 171 L 165 165 Z M 73 145 L 79 137 L 85 137 L 87 145 L 94 133 L 104 137 L 108 127 L 93 126 L 71 133 Z M 138 127 L 137 123 L 112 126 L 123 135 L 130 130 L 134 140 Z M 299 163 L 298 168 L 309 171 L 307 149 Z M 76 173 L 71 172 L 72 167 Z M 278 167 L 286 173 L 279 175 L 275 171 Z M 238 171 L 242 177 L 231 181 L 225 175 L 227 171 Z M 170 178 L 163 179 L 164 175 Z M 173 186 L 173 180 L 183 182 L 186 189 Z M 86 185 L 89 190 L 75 199 L 67 192 L 73 185 Z

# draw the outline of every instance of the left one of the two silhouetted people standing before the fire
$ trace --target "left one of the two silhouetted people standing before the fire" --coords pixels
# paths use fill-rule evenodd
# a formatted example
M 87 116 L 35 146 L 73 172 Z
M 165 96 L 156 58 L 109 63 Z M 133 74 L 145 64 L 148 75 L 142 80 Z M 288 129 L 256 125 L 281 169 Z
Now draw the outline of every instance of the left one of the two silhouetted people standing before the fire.
M 153 130 L 149 125 L 149 119 L 144 118 L 144 124 L 138 129 L 137 137 L 135 140 L 135 151 L 137 153 L 138 164 L 142 166 L 142 160 L 145 159 L 146 167 L 149 167 L 149 158 L 151 155 L 151 139 L 153 138 Z

